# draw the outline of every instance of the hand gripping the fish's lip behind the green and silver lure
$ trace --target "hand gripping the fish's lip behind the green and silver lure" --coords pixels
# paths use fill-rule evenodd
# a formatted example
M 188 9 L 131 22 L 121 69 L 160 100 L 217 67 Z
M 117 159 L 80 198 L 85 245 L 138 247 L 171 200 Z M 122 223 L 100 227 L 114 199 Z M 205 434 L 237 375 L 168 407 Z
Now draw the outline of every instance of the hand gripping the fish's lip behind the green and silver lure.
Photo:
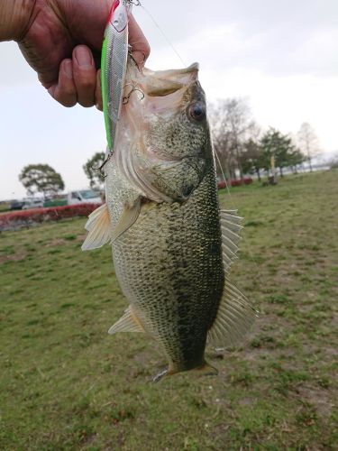
M 100 53 L 113 0 L 36 0 L 30 22 L 18 40 L 24 58 L 41 84 L 63 106 L 102 110 Z M 129 43 L 134 59 L 144 64 L 148 41 L 133 19 Z

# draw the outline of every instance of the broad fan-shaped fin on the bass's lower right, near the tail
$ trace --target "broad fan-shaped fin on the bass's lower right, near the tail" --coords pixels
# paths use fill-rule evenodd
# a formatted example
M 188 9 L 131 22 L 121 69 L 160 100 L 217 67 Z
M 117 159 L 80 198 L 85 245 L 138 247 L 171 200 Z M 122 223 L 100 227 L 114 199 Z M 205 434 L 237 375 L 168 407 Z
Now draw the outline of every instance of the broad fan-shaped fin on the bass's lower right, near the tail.
M 225 281 L 215 322 L 207 334 L 208 344 L 214 347 L 235 345 L 248 332 L 257 313 L 242 292 Z

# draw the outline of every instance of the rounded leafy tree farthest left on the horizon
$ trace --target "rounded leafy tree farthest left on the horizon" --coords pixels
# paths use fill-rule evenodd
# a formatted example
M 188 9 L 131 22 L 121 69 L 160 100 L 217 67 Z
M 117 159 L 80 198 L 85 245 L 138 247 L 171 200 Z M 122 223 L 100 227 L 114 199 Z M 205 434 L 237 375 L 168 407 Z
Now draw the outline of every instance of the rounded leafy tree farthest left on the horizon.
M 48 164 L 25 166 L 19 175 L 19 180 L 27 189 L 28 194 L 42 193 L 44 198 L 65 188 L 60 174 Z

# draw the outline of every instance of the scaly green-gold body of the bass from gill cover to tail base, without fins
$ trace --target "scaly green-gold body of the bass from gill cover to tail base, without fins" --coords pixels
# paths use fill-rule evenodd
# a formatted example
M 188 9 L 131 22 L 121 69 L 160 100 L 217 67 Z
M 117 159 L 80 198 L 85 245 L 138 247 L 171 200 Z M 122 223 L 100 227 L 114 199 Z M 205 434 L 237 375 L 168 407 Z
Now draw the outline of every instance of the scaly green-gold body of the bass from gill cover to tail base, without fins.
M 125 198 L 115 177 L 113 222 Z M 114 186 L 113 186 L 114 185 Z M 120 186 L 121 188 L 121 186 Z M 113 244 L 123 294 L 142 326 L 163 346 L 173 372 L 204 364 L 206 334 L 224 289 L 221 228 L 213 168 L 183 203 L 145 202 Z

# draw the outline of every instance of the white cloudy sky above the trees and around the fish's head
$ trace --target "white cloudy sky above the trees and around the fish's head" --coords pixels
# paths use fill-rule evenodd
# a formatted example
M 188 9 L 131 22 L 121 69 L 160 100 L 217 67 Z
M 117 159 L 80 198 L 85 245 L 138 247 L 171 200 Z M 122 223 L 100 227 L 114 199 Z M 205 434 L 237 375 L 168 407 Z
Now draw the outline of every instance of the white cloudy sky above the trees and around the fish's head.
M 297 133 L 309 122 L 327 154 L 338 151 L 337 0 L 142 0 L 182 59 L 200 63 L 209 100 L 247 97 L 262 127 Z M 181 67 L 142 8 L 151 69 Z M 58 170 L 66 189 L 87 186 L 82 165 L 105 150 L 95 108 L 64 108 L 39 85 L 14 42 L 0 43 L 0 199 L 25 195 L 29 163 Z

